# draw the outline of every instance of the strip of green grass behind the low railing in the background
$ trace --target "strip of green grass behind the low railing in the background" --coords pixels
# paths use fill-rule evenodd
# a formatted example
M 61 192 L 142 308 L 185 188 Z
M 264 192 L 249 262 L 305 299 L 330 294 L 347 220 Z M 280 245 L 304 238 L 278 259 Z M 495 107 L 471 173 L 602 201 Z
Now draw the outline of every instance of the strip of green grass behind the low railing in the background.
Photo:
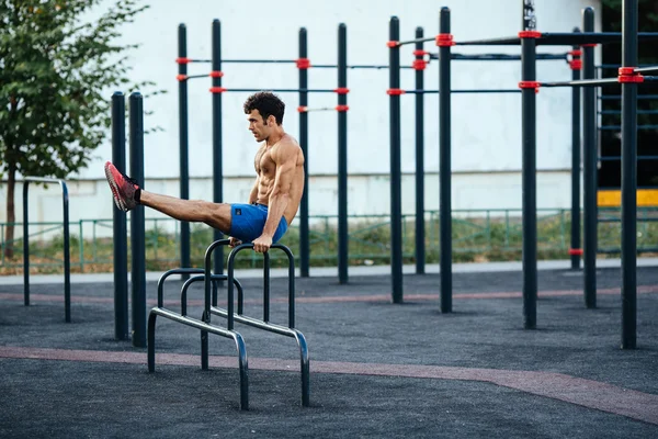
M 481 213 L 480 213 L 481 214 Z M 494 216 L 495 214 L 499 216 Z M 608 216 L 619 215 L 613 211 Z M 658 215 L 658 211 L 649 212 Z M 639 218 L 643 215 L 638 215 Z M 338 232 L 333 226 L 334 218 L 315 218 L 310 230 L 311 267 L 329 267 L 337 264 Z M 390 258 L 390 228 L 387 216 L 352 218 L 349 226 L 349 261 L 350 264 L 385 264 Z M 178 233 L 167 232 L 162 219 L 148 221 L 145 234 L 146 267 L 149 271 L 163 271 L 180 266 Z M 570 216 L 568 211 L 559 211 L 537 218 L 537 258 L 540 260 L 567 259 L 570 244 Z M 81 227 L 80 227 L 81 229 Z M 658 222 L 639 222 L 637 226 L 638 249 L 658 247 Z M 621 224 L 599 223 L 599 248 L 619 249 L 621 243 Z M 439 254 L 439 217 L 431 214 L 426 221 L 426 262 L 438 263 Z M 415 262 L 416 230 L 412 216 L 405 217 L 402 224 L 404 262 Z M 486 216 L 453 217 L 453 261 L 485 262 L 520 260 L 522 256 L 522 223 L 520 217 L 499 212 L 486 212 Z M 192 266 L 203 267 L 207 246 L 213 241 L 213 230 L 207 226 L 193 225 L 191 228 Z M 113 271 L 112 238 L 89 238 L 70 235 L 70 255 L 72 272 L 111 272 Z M 298 257 L 299 230 L 291 227 L 281 240 Z M 129 238 L 127 241 L 129 251 Z M 14 243 L 15 255 L 9 260 L 0 260 L 0 274 L 22 272 L 22 241 Z M 31 237 L 30 244 L 31 272 L 57 273 L 63 270 L 64 239 L 63 235 L 48 240 Z M 228 251 L 224 251 L 226 258 Z M 616 256 L 612 254 L 612 256 Z M 605 257 L 601 255 L 600 257 Z M 129 261 L 129 254 L 128 254 Z M 128 262 L 129 263 L 129 262 Z M 298 261 L 297 261 L 298 263 Z M 282 251 L 272 251 L 272 267 L 286 267 L 287 258 Z M 262 256 L 252 251 L 242 251 L 236 259 L 236 268 L 262 267 Z

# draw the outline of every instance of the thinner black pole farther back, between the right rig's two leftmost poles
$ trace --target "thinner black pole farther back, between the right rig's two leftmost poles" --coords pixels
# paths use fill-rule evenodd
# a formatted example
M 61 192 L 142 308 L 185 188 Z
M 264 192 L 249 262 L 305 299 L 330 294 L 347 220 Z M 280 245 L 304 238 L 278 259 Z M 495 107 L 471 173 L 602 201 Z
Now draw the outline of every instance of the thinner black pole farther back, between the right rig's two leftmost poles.
M 416 38 L 423 37 L 422 27 L 416 27 Z M 416 43 L 416 63 L 423 63 L 423 43 Z M 424 88 L 424 70 L 416 69 L 416 90 Z M 424 274 L 424 94 L 416 94 L 416 273 Z

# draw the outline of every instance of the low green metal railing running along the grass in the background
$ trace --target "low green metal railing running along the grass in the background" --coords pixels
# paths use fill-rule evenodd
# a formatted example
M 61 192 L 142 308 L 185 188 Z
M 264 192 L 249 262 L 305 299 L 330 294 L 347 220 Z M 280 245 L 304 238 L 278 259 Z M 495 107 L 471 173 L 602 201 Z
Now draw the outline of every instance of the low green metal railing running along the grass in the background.
M 453 211 L 453 258 L 455 261 L 474 260 L 476 256 L 489 260 L 509 260 L 518 256 L 522 249 L 521 211 L 515 209 L 498 210 L 462 210 Z M 316 266 L 337 263 L 337 216 L 311 216 L 309 233 L 310 259 Z M 389 215 L 351 215 L 350 216 L 350 254 L 351 263 L 386 263 L 390 258 L 389 251 Z M 426 241 L 428 263 L 435 263 L 440 255 L 440 221 L 438 211 L 426 212 Z M 638 252 L 658 252 L 658 207 L 638 207 Z M 180 264 L 180 223 L 171 218 L 147 218 L 145 234 L 147 270 L 166 270 Z M 23 226 L 23 223 L 14 223 Z M 29 238 L 42 235 L 53 235 L 64 228 L 63 223 L 32 223 L 31 227 L 43 227 L 32 232 Z M 78 233 L 64 238 L 64 245 L 70 240 L 75 271 L 86 272 L 111 271 L 113 264 L 112 219 L 80 219 L 70 226 Z M 0 223 L 0 246 L 10 243 L 2 241 L 5 223 Z M 570 209 L 540 210 L 537 217 L 537 249 L 543 258 L 568 258 L 570 234 Z M 65 232 L 66 235 L 66 232 Z M 416 247 L 415 215 L 402 215 L 402 249 L 406 262 L 415 258 Z M 50 245 L 58 250 L 61 238 L 50 238 Z M 195 266 L 201 264 L 203 251 L 213 235 L 209 227 L 198 226 L 191 233 L 192 259 Z M 22 238 L 14 239 L 19 247 Z M 299 241 L 299 230 L 296 226 L 290 228 L 282 244 L 296 249 Z M 621 224 L 619 209 L 599 209 L 599 252 L 620 252 Z M 23 241 L 23 248 L 24 248 Z M 42 245 L 47 252 L 46 261 L 32 262 L 29 267 L 60 267 L 63 258 L 58 251 L 48 251 L 47 245 Z M 31 254 L 38 256 L 38 248 Z M 67 250 L 65 250 L 66 254 Z M 42 249 L 42 252 L 44 250 Z M 295 251 L 296 252 L 296 251 Z M 0 252 L 1 254 L 1 252 Z M 272 263 L 280 258 L 272 256 Z M 260 267 L 262 258 L 254 255 L 240 257 L 240 267 Z M 93 266 L 93 267 L 92 267 Z M 100 266 L 100 267 L 99 267 Z M 5 260 L 0 256 L 0 269 L 22 269 L 21 263 Z

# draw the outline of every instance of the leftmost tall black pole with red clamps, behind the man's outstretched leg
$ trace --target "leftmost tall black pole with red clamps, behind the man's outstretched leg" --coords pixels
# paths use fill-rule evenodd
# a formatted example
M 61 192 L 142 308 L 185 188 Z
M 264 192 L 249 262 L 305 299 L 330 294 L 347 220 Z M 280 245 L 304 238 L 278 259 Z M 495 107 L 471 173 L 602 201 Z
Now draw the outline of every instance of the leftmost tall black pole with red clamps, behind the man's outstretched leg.
M 183 23 L 179 24 L 179 59 L 188 57 L 188 29 Z M 182 79 L 188 75 L 188 64 L 179 63 L 179 149 L 180 149 L 180 189 L 181 199 L 190 200 L 190 165 L 188 144 L 188 80 Z M 181 222 L 181 267 L 191 267 L 190 258 L 190 223 Z M 183 280 L 190 279 L 190 274 L 182 274 Z

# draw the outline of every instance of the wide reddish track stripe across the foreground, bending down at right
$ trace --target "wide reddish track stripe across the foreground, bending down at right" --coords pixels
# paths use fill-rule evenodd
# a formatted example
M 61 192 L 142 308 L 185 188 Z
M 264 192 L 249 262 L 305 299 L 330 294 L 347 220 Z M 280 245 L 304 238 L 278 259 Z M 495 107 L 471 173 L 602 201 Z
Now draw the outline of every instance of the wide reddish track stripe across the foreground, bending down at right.
M 146 365 L 146 353 L 141 352 L 0 347 L 0 358 Z M 201 360 L 198 356 L 160 353 L 157 354 L 156 362 L 160 365 L 198 365 Z M 209 365 L 214 368 L 237 368 L 238 361 L 234 357 L 211 357 Z M 299 371 L 299 361 L 250 358 L 249 368 L 294 372 Z M 313 361 L 311 372 L 488 382 L 533 395 L 658 425 L 658 395 L 563 373 L 337 361 Z

